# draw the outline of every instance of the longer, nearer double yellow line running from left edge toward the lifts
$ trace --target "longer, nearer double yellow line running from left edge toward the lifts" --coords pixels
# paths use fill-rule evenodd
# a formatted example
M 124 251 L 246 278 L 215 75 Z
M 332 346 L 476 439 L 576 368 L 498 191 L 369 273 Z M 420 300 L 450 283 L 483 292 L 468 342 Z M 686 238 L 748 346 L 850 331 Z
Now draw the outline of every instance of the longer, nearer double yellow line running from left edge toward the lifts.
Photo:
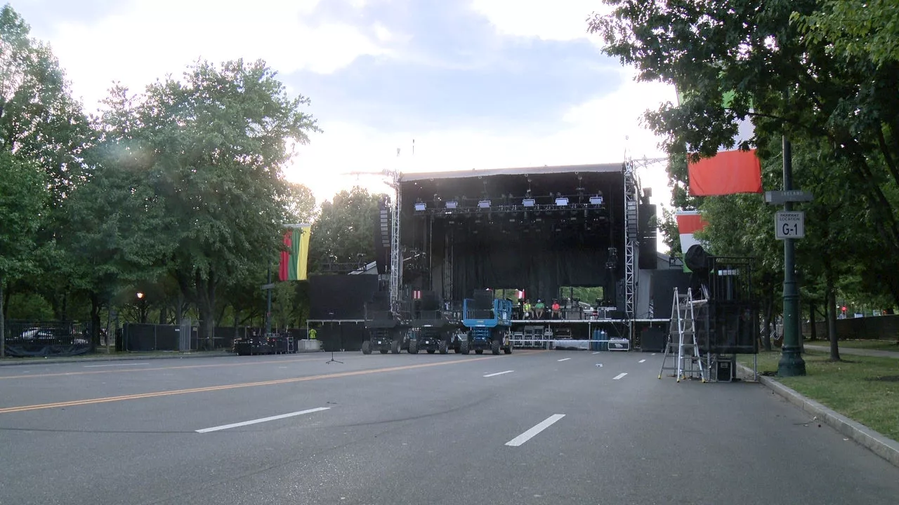
M 480 361 L 482 359 L 495 359 L 494 356 L 484 357 L 484 358 L 472 358 L 472 359 L 461 359 L 458 361 L 441 361 L 438 363 L 423 363 L 419 365 L 406 365 L 404 367 L 389 367 L 389 368 L 371 368 L 369 370 L 356 370 L 353 372 L 341 372 L 337 374 L 324 374 L 318 376 L 308 376 L 308 377 L 293 377 L 288 379 L 277 379 L 277 380 L 266 380 L 261 382 L 245 382 L 240 384 L 229 384 L 229 385 L 211 385 L 209 387 L 192 387 L 191 389 L 177 389 L 174 391 L 157 391 L 156 393 L 141 393 L 141 394 L 124 394 L 121 396 L 106 396 L 103 398 L 92 398 L 89 400 L 73 400 L 71 402 L 57 402 L 57 403 L 39 403 L 35 405 L 22 405 L 19 407 L 6 407 L 4 409 L 0 409 L 0 414 L 13 413 L 13 412 L 28 412 L 28 411 L 40 411 L 43 409 L 56 409 L 59 407 L 75 407 L 78 405 L 92 405 L 93 403 L 111 403 L 111 402 L 123 402 L 125 400 L 140 400 L 143 398 L 156 398 L 158 396 L 173 396 L 175 394 L 190 394 L 190 393 L 208 393 L 211 391 L 225 391 L 227 389 L 237 389 L 240 387 L 255 387 L 259 385 L 279 385 L 279 384 L 291 384 L 295 382 L 306 382 L 311 380 L 324 380 L 331 378 L 341 378 L 341 377 L 356 377 L 356 376 L 367 376 L 371 374 L 383 374 L 387 372 L 398 372 L 402 370 L 414 370 L 415 368 L 428 368 L 428 367 L 441 367 L 443 365 L 454 365 L 459 363 L 470 363 L 472 361 Z

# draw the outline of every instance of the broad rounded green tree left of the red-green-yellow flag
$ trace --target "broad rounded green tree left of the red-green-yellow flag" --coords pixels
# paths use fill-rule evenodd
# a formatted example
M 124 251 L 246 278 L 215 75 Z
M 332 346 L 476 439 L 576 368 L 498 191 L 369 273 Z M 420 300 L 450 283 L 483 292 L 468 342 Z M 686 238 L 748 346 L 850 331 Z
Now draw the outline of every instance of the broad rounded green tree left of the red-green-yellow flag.
M 151 84 L 136 99 L 115 89 L 105 120 L 126 164 L 144 166 L 145 181 L 173 223 L 159 230 L 186 297 L 200 312 L 200 334 L 212 345 L 217 293 L 264 269 L 280 247 L 289 217 L 281 167 L 289 146 L 308 141 L 316 121 L 289 98 L 262 61 L 200 62 Z

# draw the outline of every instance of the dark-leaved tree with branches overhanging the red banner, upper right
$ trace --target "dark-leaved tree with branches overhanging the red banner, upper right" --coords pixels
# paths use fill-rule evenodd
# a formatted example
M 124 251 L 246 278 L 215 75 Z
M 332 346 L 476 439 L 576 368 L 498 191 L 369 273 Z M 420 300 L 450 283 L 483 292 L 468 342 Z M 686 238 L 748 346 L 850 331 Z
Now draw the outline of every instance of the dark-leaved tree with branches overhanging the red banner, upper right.
M 865 22 L 841 17 L 833 2 L 606 3 L 613 12 L 595 15 L 589 25 L 606 41 L 606 54 L 636 66 L 641 80 L 678 87 L 679 105 L 646 115 L 672 152 L 713 155 L 720 146 L 734 146 L 737 121 L 745 118 L 756 135 L 740 147 L 761 149 L 781 135 L 826 143 L 879 224 L 886 254 L 899 255 L 899 64 L 888 56 L 899 40 L 877 39 L 877 54 L 886 56 L 875 62 L 864 50 L 835 50 L 809 24 L 791 22 L 824 16 L 832 26 L 850 23 L 844 40 L 852 31 L 866 33 Z M 869 31 L 884 32 L 878 30 Z M 893 296 L 899 302 L 899 291 Z

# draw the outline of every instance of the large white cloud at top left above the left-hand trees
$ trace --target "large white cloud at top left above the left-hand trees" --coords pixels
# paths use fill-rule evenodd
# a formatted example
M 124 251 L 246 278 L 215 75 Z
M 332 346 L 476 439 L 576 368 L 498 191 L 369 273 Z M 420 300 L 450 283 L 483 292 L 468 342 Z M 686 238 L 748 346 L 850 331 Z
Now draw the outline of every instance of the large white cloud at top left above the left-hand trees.
M 280 73 L 327 74 L 386 52 L 351 24 L 312 23 L 318 1 L 135 0 L 95 22 L 61 24 L 49 40 L 88 110 L 114 80 L 142 88 L 197 58 L 263 58 Z

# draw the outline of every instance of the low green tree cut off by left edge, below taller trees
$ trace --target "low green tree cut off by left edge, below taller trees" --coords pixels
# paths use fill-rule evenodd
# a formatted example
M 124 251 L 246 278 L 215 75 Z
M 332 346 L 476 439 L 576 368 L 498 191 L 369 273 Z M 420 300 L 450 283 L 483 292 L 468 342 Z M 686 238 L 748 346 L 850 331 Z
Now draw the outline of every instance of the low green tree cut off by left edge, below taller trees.
M 40 168 L 0 152 L 0 358 L 5 356 L 4 287 L 37 270 L 36 240 L 49 194 Z

